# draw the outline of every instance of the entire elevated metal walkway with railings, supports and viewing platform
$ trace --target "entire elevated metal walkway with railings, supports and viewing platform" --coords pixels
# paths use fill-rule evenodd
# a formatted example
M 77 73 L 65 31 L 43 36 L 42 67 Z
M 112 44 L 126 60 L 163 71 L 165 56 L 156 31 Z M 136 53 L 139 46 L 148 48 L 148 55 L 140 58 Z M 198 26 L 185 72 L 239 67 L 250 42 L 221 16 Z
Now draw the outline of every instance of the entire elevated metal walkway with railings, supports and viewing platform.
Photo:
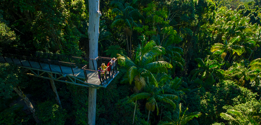
M 17 55 L 16 53 L 22 55 Z M 6 50 L 2 51 L 2 54 L 0 63 L 15 63 L 19 67 L 25 68 L 24 73 L 27 75 L 84 87 L 106 88 L 119 73 L 116 68 L 112 78 L 108 77 L 105 73 L 105 84 L 102 85 L 98 78 L 98 71 L 86 69 L 86 67 L 89 67 L 88 63 L 92 63 L 93 65 L 97 63 L 97 67 L 95 68 L 97 69 L 102 63 L 106 65 L 111 58 L 97 57 L 96 59 L 87 59 L 22 50 Z M 61 61 L 61 59 L 64 61 Z M 87 65 L 84 65 L 84 63 Z M 116 64 L 117 61 L 114 62 L 114 65 Z

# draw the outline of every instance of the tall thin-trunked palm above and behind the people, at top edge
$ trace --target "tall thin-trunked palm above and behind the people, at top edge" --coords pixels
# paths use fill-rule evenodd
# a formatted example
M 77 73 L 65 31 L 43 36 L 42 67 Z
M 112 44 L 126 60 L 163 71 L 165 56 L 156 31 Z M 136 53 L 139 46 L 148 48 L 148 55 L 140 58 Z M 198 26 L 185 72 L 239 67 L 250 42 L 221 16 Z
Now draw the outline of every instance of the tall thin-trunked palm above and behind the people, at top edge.
M 132 3 L 130 4 L 126 2 L 123 4 L 123 1 L 113 1 L 111 2 L 111 5 L 115 7 L 112 9 L 112 13 L 117 15 L 114 18 L 114 22 L 112 22 L 111 27 L 124 27 L 126 33 L 127 54 L 131 58 L 131 36 L 133 31 L 132 28 L 138 27 L 137 20 L 144 19 L 144 17 L 141 15 L 139 10 L 131 6 Z M 130 50 L 128 36 L 130 37 Z

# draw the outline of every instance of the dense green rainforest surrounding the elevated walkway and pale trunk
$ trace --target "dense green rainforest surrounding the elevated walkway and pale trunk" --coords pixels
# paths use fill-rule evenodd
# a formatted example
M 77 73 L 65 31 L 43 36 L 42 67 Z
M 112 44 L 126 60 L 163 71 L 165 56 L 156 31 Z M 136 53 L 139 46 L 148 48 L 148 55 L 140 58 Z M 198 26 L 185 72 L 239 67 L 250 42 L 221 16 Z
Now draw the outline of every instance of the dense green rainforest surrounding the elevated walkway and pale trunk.
M 260 8 L 100 0 L 98 55 L 120 72 L 97 89 L 96 125 L 260 125 Z M 0 48 L 89 58 L 88 22 L 88 0 L 0 0 Z M 0 124 L 86 125 L 88 88 L 1 62 Z

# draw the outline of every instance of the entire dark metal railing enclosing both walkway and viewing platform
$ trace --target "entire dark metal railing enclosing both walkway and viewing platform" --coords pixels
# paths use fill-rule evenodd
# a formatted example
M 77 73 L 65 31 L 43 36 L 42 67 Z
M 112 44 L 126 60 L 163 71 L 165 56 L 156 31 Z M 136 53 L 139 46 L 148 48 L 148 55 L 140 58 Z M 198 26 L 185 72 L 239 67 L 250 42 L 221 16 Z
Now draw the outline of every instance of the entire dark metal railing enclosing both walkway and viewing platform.
M 58 54 L 51 54 L 51 53 L 40 53 L 40 52 L 32 52 L 32 51 L 25 51 L 25 50 L 16 50 L 16 49 L 3 49 L 0 48 L 2 57 L 5 62 L 10 63 L 16 61 L 16 64 L 21 65 L 23 67 L 30 67 L 35 69 L 43 69 L 49 70 L 51 72 L 57 72 L 64 74 L 64 67 L 70 67 L 71 72 L 73 76 L 75 76 L 74 68 L 81 68 L 84 72 L 84 77 L 86 79 L 86 82 L 88 83 L 89 80 L 89 74 L 96 74 L 101 75 L 97 69 L 102 65 L 102 63 L 107 64 L 112 58 L 106 58 L 106 57 L 97 57 L 95 59 L 90 58 L 81 58 L 81 57 L 74 57 L 74 56 L 64 56 L 64 55 L 58 55 Z M 6 59 L 8 58 L 8 60 Z M 88 69 L 89 63 L 92 63 L 95 68 L 94 70 Z M 57 65 L 59 68 L 54 69 L 52 65 Z M 114 61 L 112 65 L 117 66 L 117 59 Z M 48 67 L 48 68 L 47 68 Z M 111 68 L 111 67 L 108 67 Z M 108 70 L 108 68 L 105 69 L 105 71 Z M 58 70 L 59 69 L 59 70 Z M 117 68 L 114 67 L 111 70 L 115 70 L 117 72 Z M 108 76 L 107 73 L 104 73 L 106 83 L 108 83 Z M 101 78 L 101 77 L 100 77 Z M 100 80 L 100 79 L 99 79 Z

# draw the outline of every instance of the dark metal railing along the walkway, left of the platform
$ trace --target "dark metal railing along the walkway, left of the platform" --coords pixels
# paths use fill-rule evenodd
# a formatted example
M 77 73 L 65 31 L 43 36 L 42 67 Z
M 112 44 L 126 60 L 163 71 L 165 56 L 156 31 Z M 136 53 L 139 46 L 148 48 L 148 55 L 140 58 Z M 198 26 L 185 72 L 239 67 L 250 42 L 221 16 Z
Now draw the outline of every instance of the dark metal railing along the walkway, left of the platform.
M 64 55 L 58 55 L 58 54 L 51 54 L 51 53 L 39 53 L 39 52 L 32 52 L 32 51 L 25 51 L 25 50 L 15 50 L 15 49 L 2 49 L 2 54 L 4 60 L 7 62 L 5 57 L 11 58 L 12 62 L 14 62 L 14 59 L 18 59 L 21 66 L 24 66 L 21 60 L 28 61 L 31 68 L 38 68 L 42 69 L 44 64 L 48 64 L 49 71 L 52 72 L 51 65 L 58 65 L 60 68 L 60 71 L 57 71 L 58 73 L 63 74 L 63 69 L 61 66 L 70 67 L 73 75 L 75 76 L 75 73 L 73 71 L 73 68 L 81 68 L 85 65 L 88 65 L 88 58 L 81 58 L 81 57 L 74 57 L 74 56 L 64 56 Z M 37 62 L 38 66 L 31 65 L 31 63 Z

